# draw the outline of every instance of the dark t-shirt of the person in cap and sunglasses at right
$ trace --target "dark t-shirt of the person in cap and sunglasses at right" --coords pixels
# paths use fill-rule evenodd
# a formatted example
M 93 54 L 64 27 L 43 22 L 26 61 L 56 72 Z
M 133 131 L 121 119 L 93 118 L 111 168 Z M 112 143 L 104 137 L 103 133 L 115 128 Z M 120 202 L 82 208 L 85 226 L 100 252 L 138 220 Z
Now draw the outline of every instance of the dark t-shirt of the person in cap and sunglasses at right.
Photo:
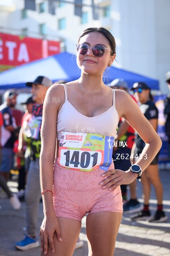
M 156 108 L 153 101 L 147 101 L 140 106 L 140 110 L 145 115 L 147 120 L 158 119 L 158 109 Z M 147 132 L 147 131 L 146 131 Z M 140 138 L 140 136 L 136 133 L 135 137 L 136 149 L 138 151 L 142 151 L 145 147 L 145 142 Z

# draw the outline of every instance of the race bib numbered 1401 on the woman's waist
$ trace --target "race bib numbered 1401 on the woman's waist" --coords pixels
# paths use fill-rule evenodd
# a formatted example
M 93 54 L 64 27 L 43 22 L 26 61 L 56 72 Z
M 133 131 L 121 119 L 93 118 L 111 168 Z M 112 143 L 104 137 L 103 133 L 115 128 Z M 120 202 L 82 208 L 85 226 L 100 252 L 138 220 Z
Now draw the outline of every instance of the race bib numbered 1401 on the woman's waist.
M 58 161 L 62 167 L 92 171 L 100 167 L 107 171 L 112 163 L 114 137 L 92 133 L 62 132 Z

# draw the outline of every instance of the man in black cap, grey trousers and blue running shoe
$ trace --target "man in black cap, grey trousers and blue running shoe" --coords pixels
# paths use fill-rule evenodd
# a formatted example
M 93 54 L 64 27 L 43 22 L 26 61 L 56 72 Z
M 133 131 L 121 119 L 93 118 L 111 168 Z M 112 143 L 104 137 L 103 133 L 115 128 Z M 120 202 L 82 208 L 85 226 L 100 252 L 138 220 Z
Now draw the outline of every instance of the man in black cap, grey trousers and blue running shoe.
M 28 87 L 32 87 L 32 100 L 36 103 L 33 105 L 32 118 L 29 121 L 31 162 L 25 192 L 27 235 L 21 242 L 15 245 L 17 249 L 23 251 L 39 247 L 36 233 L 39 201 L 41 198 L 39 183 L 39 154 L 41 150 L 40 129 L 44 98 L 48 88 L 52 84 L 53 82 L 44 76 L 38 76 L 33 82 L 26 83 Z

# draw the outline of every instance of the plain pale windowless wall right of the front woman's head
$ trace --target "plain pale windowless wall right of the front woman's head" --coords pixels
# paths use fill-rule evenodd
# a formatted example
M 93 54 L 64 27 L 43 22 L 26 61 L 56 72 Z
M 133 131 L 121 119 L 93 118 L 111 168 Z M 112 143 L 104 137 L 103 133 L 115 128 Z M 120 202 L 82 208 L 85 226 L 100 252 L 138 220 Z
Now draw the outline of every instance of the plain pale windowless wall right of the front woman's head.
M 170 70 L 170 1 L 114 0 L 112 33 L 117 39 L 117 61 L 122 68 L 160 81 L 168 93 L 165 73 Z

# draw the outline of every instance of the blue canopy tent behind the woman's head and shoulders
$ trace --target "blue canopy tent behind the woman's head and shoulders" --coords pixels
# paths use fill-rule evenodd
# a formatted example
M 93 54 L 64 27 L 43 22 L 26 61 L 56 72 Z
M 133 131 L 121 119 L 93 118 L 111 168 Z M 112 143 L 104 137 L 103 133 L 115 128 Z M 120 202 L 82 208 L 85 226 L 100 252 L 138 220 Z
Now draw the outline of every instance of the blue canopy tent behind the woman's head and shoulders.
M 25 82 L 34 81 L 38 75 L 44 75 L 53 80 L 76 80 L 80 77 L 80 69 L 76 64 L 76 56 L 67 52 L 48 56 L 44 59 L 23 64 L 11 70 L 0 73 L 0 90 L 17 89 L 27 92 Z M 120 68 L 106 68 L 103 81 L 108 84 L 115 78 L 123 78 L 132 87 L 135 82 L 146 82 L 154 90 L 159 90 L 159 81 Z

